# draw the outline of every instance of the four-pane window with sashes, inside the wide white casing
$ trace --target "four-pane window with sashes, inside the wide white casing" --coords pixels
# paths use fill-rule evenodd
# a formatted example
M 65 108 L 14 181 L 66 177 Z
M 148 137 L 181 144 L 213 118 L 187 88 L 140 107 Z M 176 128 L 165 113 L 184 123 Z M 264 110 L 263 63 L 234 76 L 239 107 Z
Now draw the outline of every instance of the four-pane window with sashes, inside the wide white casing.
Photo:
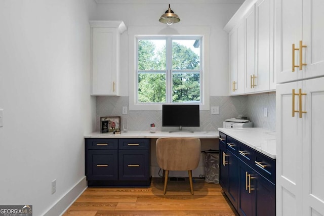
M 136 37 L 137 104 L 201 104 L 201 36 Z

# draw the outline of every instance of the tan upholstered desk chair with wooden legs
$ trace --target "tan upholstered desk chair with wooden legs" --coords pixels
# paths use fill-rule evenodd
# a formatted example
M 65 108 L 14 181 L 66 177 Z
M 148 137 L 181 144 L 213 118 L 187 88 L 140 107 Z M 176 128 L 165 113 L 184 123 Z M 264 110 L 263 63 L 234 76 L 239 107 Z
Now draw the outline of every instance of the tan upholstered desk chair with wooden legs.
M 159 138 L 156 140 L 156 158 L 165 174 L 164 194 L 167 191 L 169 170 L 187 170 L 191 194 L 193 194 L 192 169 L 197 168 L 200 159 L 200 140 L 198 138 Z

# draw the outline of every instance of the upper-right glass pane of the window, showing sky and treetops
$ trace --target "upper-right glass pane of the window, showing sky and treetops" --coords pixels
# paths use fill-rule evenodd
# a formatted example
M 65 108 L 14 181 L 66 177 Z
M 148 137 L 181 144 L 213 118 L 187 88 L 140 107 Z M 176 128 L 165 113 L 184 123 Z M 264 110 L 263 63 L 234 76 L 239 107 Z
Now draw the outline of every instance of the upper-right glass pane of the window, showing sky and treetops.
M 172 69 L 200 70 L 200 40 L 172 40 Z

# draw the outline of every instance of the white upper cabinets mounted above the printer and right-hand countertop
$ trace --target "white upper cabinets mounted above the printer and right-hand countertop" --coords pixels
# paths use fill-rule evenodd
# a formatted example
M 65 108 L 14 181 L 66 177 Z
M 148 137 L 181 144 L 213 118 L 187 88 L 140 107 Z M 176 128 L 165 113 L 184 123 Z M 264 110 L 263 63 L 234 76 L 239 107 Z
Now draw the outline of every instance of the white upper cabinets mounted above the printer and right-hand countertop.
M 230 94 L 275 91 L 273 0 L 246 0 L 224 30 L 230 32 Z M 232 49 L 234 45 L 236 50 Z M 236 76 L 233 75 L 235 68 Z M 244 83 L 242 89 L 239 89 L 240 76 Z M 237 77 L 236 88 L 234 77 Z

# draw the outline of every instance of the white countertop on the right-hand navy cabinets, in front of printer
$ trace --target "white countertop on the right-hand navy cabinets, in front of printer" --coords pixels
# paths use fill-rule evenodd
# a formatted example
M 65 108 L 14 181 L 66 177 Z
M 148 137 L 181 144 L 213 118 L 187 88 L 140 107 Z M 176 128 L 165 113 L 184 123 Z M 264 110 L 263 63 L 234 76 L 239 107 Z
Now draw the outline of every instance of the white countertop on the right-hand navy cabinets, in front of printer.
M 275 132 L 261 127 L 218 128 L 218 131 L 246 144 L 247 146 L 276 158 Z

